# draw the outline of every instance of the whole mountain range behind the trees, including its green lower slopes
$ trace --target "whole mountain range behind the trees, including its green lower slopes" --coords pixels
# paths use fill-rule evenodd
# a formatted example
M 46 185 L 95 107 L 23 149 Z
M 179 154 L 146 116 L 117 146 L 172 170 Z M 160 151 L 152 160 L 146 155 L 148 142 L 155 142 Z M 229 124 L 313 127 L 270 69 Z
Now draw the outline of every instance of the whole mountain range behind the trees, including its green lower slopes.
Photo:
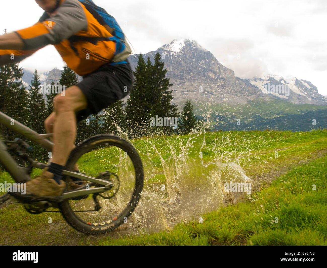
M 263 78 L 239 78 L 210 51 L 187 39 L 175 39 L 143 57 L 146 60 L 149 56 L 153 63 L 157 52 L 173 84 L 173 103 L 181 111 L 185 99 L 191 99 L 195 114 L 200 119 L 210 118 L 211 129 L 327 128 L 327 97 L 319 94 L 310 81 L 270 74 Z M 132 69 L 137 60 L 137 54 L 129 56 Z M 24 71 L 23 81 L 27 85 L 32 73 Z M 58 83 L 60 76 L 61 70 L 53 69 L 40 75 L 41 83 Z

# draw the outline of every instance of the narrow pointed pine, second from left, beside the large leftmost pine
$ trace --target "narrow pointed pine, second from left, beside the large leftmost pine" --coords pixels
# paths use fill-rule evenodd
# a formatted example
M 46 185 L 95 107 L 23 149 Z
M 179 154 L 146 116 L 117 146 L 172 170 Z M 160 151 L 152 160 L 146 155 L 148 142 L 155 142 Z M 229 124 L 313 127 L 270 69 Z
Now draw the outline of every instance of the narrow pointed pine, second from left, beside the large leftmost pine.
M 28 104 L 28 126 L 38 133 L 44 133 L 44 120 L 46 116 L 45 101 L 43 99 L 43 88 L 40 87 L 40 76 L 34 71 L 33 80 L 29 90 Z M 41 89 L 41 90 L 40 90 Z M 42 91 L 42 92 L 41 92 Z

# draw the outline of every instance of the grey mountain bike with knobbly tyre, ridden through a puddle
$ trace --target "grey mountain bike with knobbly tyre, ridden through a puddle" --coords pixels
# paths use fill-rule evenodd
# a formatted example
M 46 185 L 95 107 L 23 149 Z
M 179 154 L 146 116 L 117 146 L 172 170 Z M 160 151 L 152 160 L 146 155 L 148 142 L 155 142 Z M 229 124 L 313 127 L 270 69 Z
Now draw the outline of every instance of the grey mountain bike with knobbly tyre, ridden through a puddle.
M 53 143 L 48 138 L 52 134 L 39 134 L 2 112 L 0 124 L 51 152 Z M 32 159 L 31 149 L 26 141 L 4 140 L 0 133 L 0 163 L 16 185 L 31 180 L 32 172 L 48 166 Z M 74 171 L 77 165 L 79 172 Z M 73 178 L 81 186 L 72 190 L 69 185 Z M 137 206 L 143 189 L 143 164 L 128 141 L 112 134 L 100 134 L 83 140 L 71 151 L 63 180 L 66 189 L 60 196 L 35 197 L 24 194 L 22 188 L 14 191 L 12 187 L 9 193 L 0 196 L 0 201 L 6 200 L 9 194 L 29 213 L 59 212 L 82 233 L 107 233 L 126 223 Z M 84 181 L 86 184 L 81 184 Z M 59 211 L 49 211 L 51 207 Z

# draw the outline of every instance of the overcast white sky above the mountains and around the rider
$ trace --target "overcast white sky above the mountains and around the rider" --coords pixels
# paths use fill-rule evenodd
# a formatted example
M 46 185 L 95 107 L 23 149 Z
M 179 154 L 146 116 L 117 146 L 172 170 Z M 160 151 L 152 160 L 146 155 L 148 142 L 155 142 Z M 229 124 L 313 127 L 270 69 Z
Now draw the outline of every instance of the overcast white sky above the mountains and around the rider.
M 173 39 L 192 39 L 236 76 L 295 76 L 327 94 L 326 0 L 93 1 L 116 18 L 133 53 L 156 50 Z M 26 28 L 42 14 L 34 0 L 1 0 L 0 29 Z M 52 46 L 21 62 L 39 72 L 64 65 Z

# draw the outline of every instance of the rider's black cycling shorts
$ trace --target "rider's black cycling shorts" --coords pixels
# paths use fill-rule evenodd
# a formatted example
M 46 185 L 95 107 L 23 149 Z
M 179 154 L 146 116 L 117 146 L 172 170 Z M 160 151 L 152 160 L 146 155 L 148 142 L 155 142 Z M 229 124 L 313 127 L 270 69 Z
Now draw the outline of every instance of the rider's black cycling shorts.
M 128 62 L 128 61 L 127 61 Z M 76 113 L 77 122 L 91 114 L 97 114 L 113 102 L 127 96 L 133 86 L 130 64 L 105 64 L 83 77 L 77 84 L 87 99 L 87 108 Z

